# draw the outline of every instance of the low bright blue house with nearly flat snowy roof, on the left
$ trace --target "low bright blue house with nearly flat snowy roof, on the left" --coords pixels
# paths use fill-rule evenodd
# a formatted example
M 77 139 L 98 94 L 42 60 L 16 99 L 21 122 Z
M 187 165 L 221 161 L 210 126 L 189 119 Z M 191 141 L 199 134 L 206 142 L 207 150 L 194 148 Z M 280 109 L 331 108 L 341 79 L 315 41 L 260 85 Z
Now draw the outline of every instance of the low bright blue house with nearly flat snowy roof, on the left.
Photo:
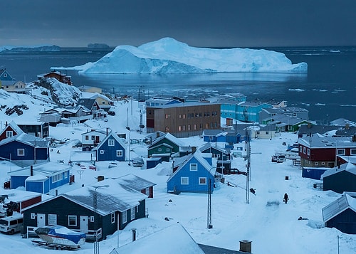
M 64 184 L 69 184 L 71 166 L 47 162 L 34 164 L 9 172 L 11 189 L 25 187 L 26 191 L 48 194 Z

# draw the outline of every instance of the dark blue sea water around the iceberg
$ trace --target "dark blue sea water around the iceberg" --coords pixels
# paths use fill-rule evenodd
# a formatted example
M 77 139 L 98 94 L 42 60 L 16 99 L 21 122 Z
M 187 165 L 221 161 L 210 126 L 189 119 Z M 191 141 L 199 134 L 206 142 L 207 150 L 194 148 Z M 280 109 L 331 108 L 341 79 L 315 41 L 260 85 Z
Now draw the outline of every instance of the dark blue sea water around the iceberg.
M 310 120 L 322 124 L 343 117 L 356 122 L 356 47 L 266 48 L 285 53 L 292 63 L 308 63 L 308 74 L 213 73 L 182 75 L 78 75 L 75 86 L 92 85 L 137 99 L 153 95 L 204 98 L 243 93 L 248 101 L 286 100 L 309 110 Z M 53 53 L 0 53 L 0 67 L 16 80 L 30 82 L 51 67 L 95 62 L 112 49 L 63 48 Z

